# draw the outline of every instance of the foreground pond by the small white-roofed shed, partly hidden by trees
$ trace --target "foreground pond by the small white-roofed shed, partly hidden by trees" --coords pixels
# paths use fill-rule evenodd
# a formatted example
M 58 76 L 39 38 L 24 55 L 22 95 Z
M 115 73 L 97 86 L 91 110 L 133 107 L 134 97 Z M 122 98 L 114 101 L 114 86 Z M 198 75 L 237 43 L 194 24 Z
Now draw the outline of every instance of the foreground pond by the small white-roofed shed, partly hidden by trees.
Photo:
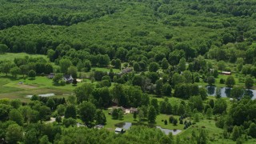
M 139 125 L 139 124 L 138 123 L 131 123 L 131 122 L 120 122 L 118 124 L 115 124 L 114 126 L 121 127 L 122 129 L 128 130 L 130 128 L 130 126 L 132 126 L 132 125 Z M 143 124 L 143 126 L 149 126 L 149 125 Z M 154 126 L 149 126 L 149 127 L 154 127 Z M 176 134 L 179 134 L 180 132 L 182 132 L 182 130 L 163 129 L 161 126 L 156 126 L 156 128 L 162 130 L 162 132 L 164 132 L 167 135 L 170 134 L 170 133 L 172 133 L 173 135 L 176 135 Z

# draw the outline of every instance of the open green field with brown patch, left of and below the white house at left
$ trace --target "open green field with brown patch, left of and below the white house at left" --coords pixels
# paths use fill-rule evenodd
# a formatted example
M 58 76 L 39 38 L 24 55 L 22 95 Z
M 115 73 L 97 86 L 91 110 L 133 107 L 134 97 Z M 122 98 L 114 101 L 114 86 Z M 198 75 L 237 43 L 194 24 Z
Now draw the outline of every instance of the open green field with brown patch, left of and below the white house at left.
M 34 79 L 12 78 L 0 74 L 0 98 L 21 99 L 22 102 L 29 102 L 30 98 L 26 98 L 27 95 L 33 94 L 55 94 L 54 97 L 63 98 L 68 97 L 74 93 L 72 84 L 66 86 L 55 86 L 52 79 L 38 76 Z M 19 84 L 22 82 L 22 84 Z M 81 86 L 83 82 L 78 82 L 78 86 Z

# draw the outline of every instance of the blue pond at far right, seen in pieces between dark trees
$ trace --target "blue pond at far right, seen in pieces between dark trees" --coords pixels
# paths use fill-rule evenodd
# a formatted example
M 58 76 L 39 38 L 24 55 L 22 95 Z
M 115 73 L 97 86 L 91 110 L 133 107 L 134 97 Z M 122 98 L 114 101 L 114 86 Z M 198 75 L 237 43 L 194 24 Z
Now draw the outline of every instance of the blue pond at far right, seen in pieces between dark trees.
M 206 86 L 207 94 L 209 96 L 215 96 L 216 95 L 216 86 Z M 222 98 L 230 98 L 230 92 L 232 88 L 229 87 L 221 87 L 221 96 Z M 256 99 L 256 90 L 245 90 L 244 95 L 249 95 L 251 99 Z

